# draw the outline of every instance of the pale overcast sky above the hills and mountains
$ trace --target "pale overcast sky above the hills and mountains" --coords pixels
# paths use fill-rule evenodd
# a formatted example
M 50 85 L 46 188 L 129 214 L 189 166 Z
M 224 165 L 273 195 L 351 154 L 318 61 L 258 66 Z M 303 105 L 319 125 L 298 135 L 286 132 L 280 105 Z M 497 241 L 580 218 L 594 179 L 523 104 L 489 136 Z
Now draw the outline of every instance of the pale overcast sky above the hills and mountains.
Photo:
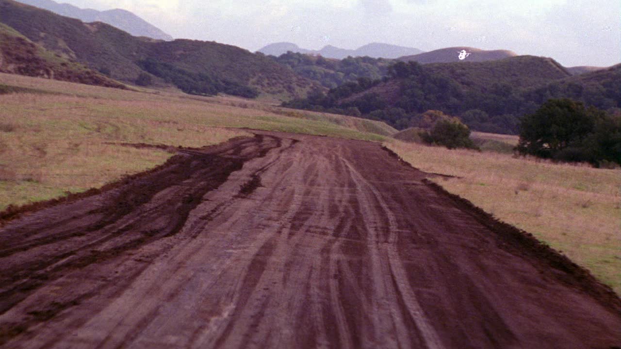
M 357 48 L 370 42 L 424 51 L 507 49 L 564 66 L 621 62 L 620 0 L 56 0 L 134 12 L 175 38 L 255 52 L 274 42 Z

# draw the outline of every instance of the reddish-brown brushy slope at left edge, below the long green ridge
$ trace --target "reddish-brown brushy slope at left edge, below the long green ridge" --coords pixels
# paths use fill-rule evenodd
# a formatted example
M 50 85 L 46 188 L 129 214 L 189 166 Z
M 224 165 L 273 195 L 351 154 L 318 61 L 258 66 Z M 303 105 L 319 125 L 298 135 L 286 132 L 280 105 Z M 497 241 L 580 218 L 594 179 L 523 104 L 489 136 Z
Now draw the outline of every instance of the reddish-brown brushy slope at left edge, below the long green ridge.
M 124 84 L 90 70 L 84 65 L 45 50 L 17 30 L 2 23 L 0 23 L 0 72 L 125 88 Z

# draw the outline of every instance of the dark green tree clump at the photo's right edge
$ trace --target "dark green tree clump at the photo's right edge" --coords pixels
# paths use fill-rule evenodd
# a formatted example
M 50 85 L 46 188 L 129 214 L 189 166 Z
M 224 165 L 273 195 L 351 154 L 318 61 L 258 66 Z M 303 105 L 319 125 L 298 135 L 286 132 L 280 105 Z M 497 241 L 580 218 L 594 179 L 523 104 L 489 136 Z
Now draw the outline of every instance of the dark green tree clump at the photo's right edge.
M 518 152 L 560 161 L 621 164 L 621 113 L 550 99 L 522 119 Z

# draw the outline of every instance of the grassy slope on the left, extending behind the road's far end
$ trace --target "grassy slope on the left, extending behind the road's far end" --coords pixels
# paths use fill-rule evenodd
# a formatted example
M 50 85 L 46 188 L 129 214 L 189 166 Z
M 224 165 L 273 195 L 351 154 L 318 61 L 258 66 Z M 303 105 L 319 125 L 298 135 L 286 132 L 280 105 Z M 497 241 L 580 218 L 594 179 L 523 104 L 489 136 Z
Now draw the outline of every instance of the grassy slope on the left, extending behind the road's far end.
M 0 74 L 0 210 L 79 192 L 171 156 L 110 143 L 202 147 L 252 129 L 386 140 L 383 123 L 242 99 L 99 88 Z M 37 93 L 23 93 L 23 91 Z M 44 93 L 40 93 L 44 92 Z M 371 133 L 371 132 L 379 132 Z

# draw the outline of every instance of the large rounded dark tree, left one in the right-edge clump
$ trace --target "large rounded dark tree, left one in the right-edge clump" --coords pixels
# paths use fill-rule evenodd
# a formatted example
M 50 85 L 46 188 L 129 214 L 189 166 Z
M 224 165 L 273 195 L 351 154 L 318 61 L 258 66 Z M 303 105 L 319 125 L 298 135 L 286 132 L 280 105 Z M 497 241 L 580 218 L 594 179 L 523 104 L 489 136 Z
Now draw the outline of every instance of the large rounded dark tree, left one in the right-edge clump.
M 553 158 L 564 148 L 581 145 L 593 130 L 596 110 L 567 98 L 549 99 L 522 119 L 517 150 Z

